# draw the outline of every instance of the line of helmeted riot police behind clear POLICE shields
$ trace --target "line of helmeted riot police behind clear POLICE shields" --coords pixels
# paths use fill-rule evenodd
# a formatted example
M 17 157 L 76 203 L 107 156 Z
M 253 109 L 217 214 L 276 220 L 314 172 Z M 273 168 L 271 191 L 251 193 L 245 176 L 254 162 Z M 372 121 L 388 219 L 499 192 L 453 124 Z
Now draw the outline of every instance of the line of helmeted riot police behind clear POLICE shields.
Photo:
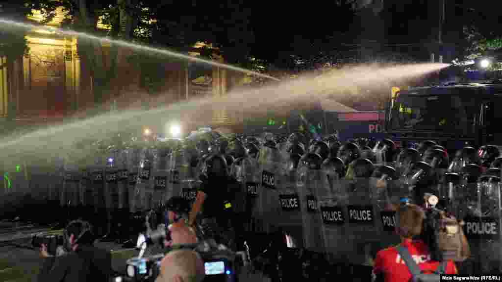
M 413 198 L 418 189 L 410 188 L 420 187 L 464 220 L 471 269 L 486 270 L 500 261 L 501 162 L 494 146 L 464 148 L 450 163 L 444 148 L 432 142 L 398 151 L 390 140 L 354 140 L 342 146 L 335 137 L 307 144 L 300 134 L 236 139 L 240 145 L 232 150 L 240 147 L 244 152 L 225 155 L 229 174 L 239 183 L 232 207 L 253 219 L 251 231 L 270 233 L 282 227 L 297 247 L 327 253 L 334 261 L 369 264 L 375 246 L 399 242 L 392 204 Z M 84 206 L 88 214 L 98 214 L 98 234 L 135 237 L 132 214 L 173 195 L 193 199 L 194 183 L 204 174 L 201 160 L 218 151 L 208 142 L 190 148 L 181 143 L 172 139 L 157 147 L 109 146 L 83 163 L 65 160 L 59 170 L 62 185 L 55 173 L 40 177 L 46 177 L 53 189 L 49 195 L 58 197 L 68 211 Z

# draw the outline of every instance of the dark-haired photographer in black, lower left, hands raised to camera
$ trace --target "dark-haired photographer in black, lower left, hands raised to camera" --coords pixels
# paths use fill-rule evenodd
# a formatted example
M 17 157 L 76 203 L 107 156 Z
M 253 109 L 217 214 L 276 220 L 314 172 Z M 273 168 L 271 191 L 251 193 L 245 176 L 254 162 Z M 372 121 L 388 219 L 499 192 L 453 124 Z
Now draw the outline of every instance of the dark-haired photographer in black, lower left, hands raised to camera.
M 93 245 L 94 235 L 88 222 L 74 220 L 64 230 L 65 253 L 50 255 L 41 244 L 44 258 L 39 282 L 108 281 L 112 275 L 111 254 Z

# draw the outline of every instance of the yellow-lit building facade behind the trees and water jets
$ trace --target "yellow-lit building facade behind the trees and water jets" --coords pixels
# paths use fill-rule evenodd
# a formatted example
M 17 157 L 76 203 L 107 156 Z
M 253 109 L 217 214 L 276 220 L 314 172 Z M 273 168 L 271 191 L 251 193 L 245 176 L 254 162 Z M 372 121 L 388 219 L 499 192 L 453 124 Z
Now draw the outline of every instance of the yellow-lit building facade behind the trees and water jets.
M 57 10 L 54 19 L 47 24 L 61 27 L 65 11 Z M 27 19 L 39 23 L 43 15 L 33 11 Z M 103 33 L 109 27 L 98 22 Z M 74 115 L 94 107 L 93 86 L 95 81 L 90 67 L 78 54 L 78 40 L 56 32 L 34 29 L 26 35 L 29 53 L 23 58 L 13 58 L 9 65 L 7 57 L 0 55 L 0 116 L 13 117 L 16 125 L 26 122 L 44 122 Z M 103 68 L 110 67 L 110 46 L 102 44 Z M 192 56 L 200 55 L 200 48 L 216 48 L 198 43 L 188 48 Z M 119 48 L 121 49 L 121 48 Z M 166 62 L 162 95 L 149 95 L 140 86 L 141 70 L 128 60 L 132 50 L 119 50 L 117 73 L 110 81 L 110 91 L 104 93 L 105 107 L 127 108 L 138 103 L 169 104 L 200 96 L 222 96 L 227 92 L 227 70 L 218 67 L 200 66 L 187 62 Z M 223 62 L 219 55 L 214 60 Z M 124 83 L 127 82 L 127 83 Z M 155 97 L 153 97 L 155 96 Z M 234 122 L 234 121 L 233 121 Z M 229 124 L 224 109 L 213 110 L 212 126 Z

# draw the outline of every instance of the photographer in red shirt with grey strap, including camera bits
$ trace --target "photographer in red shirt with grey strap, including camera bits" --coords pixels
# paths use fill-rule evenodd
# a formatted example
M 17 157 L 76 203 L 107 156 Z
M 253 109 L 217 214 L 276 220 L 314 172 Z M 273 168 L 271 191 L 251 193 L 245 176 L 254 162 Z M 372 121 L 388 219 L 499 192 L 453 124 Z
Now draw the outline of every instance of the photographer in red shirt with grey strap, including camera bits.
M 442 216 L 446 217 L 445 214 Z M 421 239 L 413 239 L 417 236 L 424 237 L 424 222 L 430 220 L 432 218 L 426 219 L 426 212 L 417 205 L 404 203 L 398 208 L 396 232 L 401 237 L 401 244 L 380 250 L 376 254 L 372 271 L 373 282 L 439 281 L 439 274 L 457 274 L 452 260 L 447 260 L 447 257 L 443 257 L 441 261 L 435 260 L 434 253 L 437 250 L 431 249 L 433 246 Z M 441 229 L 439 226 L 437 228 Z M 463 236 L 463 233 L 460 233 L 460 236 Z M 465 236 L 463 238 L 465 239 Z

